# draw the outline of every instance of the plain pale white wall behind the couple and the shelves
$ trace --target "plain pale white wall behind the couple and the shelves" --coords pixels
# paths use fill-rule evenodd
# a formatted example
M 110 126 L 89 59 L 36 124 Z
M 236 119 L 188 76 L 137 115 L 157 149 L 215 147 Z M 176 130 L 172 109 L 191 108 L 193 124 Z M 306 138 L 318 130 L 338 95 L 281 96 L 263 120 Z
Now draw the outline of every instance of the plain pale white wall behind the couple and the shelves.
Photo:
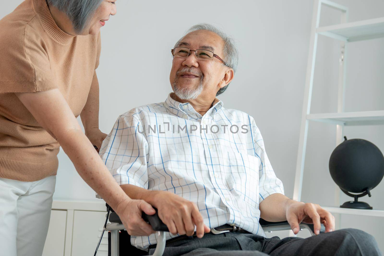
M 2 2 L 0 17 L 20 2 Z M 349 7 L 349 21 L 383 16 L 382 0 L 335 2 Z M 276 175 L 283 181 L 286 195 L 292 197 L 313 2 L 119 0 L 117 8 L 118 14 L 102 28 L 102 54 L 97 70 L 100 129 L 109 133 L 119 114 L 132 107 L 164 101 L 171 91 L 170 49 L 190 26 L 212 23 L 232 35 L 240 51 L 235 79 L 219 98 L 225 107 L 246 111 L 255 118 Z M 338 22 L 333 10 L 325 10 L 321 17 L 321 25 Z M 377 39 L 348 45 L 346 111 L 384 109 L 383 43 L 383 39 Z M 141 51 L 143 48 L 156 52 L 148 54 Z M 339 42 L 319 36 L 313 113 L 336 112 L 338 59 Z M 333 205 L 334 182 L 328 161 L 336 146 L 336 129 L 321 123 L 311 123 L 309 128 L 302 200 Z M 370 140 L 382 152 L 383 131 L 383 126 L 345 129 L 349 139 Z M 93 190 L 62 151 L 59 160 L 54 198 L 93 200 Z M 361 200 L 384 210 L 383 193 L 384 182 L 372 190 L 371 198 Z M 342 202 L 347 200 L 350 198 L 342 196 Z M 343 216 L 342 227 L 364 229 L 382 243 L 384 236 L 379 231 L 384 228 L 384 221 L 366 219 Z

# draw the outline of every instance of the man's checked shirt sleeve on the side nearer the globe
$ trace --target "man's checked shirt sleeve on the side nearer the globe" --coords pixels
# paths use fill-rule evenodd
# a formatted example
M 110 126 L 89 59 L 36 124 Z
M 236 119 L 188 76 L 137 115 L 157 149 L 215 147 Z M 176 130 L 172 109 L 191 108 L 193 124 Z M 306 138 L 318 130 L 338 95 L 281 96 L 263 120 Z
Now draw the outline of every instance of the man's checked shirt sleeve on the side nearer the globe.
M 269 195 L 280 193 L 284 195 L 283 182 L 276 177 L 265 151 L 264 140 L 260 130 L 252 119 L 253 143 L 255 155 L 259 161 L 259 203 Z

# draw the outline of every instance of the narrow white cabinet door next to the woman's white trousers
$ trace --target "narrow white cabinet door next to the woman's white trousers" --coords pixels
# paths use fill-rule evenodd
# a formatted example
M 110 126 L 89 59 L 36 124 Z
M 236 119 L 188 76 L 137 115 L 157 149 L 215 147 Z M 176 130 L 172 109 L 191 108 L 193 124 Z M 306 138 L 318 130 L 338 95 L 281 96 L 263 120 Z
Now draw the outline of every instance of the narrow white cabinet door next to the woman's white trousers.
M 52 210 L 43 256 L 64 256 L 67 211 Z M 108 248 L 107 248 L 108 249 Z

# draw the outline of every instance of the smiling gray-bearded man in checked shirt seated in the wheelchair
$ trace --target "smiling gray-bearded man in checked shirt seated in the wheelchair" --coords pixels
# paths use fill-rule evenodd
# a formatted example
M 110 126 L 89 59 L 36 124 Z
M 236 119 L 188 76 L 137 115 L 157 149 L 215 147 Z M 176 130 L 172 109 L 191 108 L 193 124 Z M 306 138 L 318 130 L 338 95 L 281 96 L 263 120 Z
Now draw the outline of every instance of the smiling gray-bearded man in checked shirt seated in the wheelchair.
M 208 24 L 193 26 L 172 55 L 174 93 L 122 114 L 100 150 L 127 195 L 158 209 L 170 231 L 164 255 L 379 254 L 371 235 L 333 231 L 328 211 L 285 197 L 255 120 L 215 97 L 238 61 L 227 35 Z M 323 223 L 326 233 L 266 238 L 260 218 L 288 220 L 295 234 L 301 221 L 313 223 L 316 234 Z M 156 247 L 154 235 L 132 236 L 131 243 L 150 254 Z

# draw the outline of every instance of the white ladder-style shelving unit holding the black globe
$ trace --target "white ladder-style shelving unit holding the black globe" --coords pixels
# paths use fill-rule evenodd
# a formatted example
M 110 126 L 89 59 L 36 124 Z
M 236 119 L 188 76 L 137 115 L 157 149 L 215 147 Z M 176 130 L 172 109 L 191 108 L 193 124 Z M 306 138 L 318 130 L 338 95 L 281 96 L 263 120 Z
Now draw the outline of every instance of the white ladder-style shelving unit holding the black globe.
M 320 13 L 323 6 L 340 11 L 341 24 L 319 27 Z M 336 146 L 343 142 L 344 126 L 383 125 L 384 111 L 344 112 L 345 97 L 345 53 L 349 42 L 368 40 L 384 37 L 384 17 L 356 22 L 348 21 L 348 7 L 328 0 L 315 0 L 313 7 L 312 29 L 308 64 L 306 70 L 303 112 L 300 126 L 299 149 L 296 162 L 295 187 L 293 199 L 301 200 L 303 184 L 305 152 L 308 137 L 308 123 L 310 121 L 326 122 L 336 125 Z M 316 59 L 318 35 L 328 36 L 340 41 L 340 61 L 338 78 L 338 111 L 336 113 L 311 114 L 311 97 L 313 88 L 313 74 Z M 340 188 L 335 185 L 334 205 L 340 204 Z M 360 210 L 339 207 L 323 207 L 331 213 L 379 216 L 384 217 L 382 210 Z M 293 235 L 293 233 L 291 233 Z

